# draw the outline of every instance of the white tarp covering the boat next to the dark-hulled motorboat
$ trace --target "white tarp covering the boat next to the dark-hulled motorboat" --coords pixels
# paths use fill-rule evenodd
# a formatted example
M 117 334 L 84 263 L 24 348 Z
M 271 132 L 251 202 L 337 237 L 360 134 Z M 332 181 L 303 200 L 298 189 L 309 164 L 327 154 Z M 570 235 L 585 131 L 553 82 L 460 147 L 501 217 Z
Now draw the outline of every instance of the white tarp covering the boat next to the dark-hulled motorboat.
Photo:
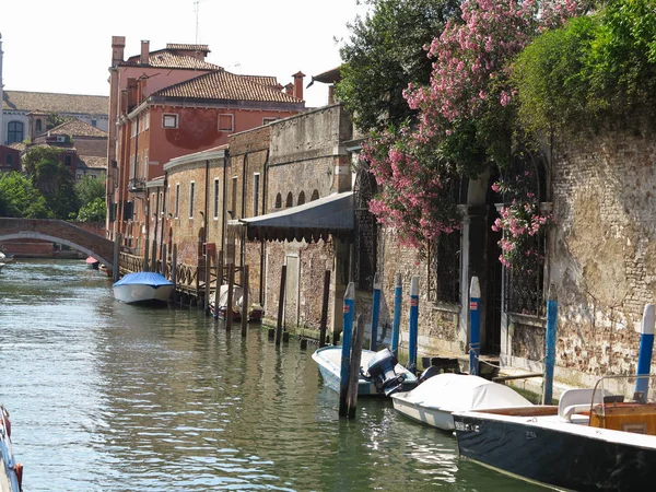
M 532 405 L 514 389 L 468 374 L 437 374 L 406 396 L 406 400 L 450 412 Z

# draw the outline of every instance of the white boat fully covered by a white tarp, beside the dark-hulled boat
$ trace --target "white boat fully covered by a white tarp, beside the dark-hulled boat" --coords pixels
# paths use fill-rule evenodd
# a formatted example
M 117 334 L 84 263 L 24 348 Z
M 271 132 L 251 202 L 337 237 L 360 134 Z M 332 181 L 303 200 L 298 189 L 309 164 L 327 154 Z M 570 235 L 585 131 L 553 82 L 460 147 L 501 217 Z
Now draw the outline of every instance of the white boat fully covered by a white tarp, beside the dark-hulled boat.
M 453 373 L 436 374 L 411 391 L 394 394 L 391 400 L 399 413 L 443 431 L 454 430 L 453 412 L 531 405 L 508 386 Z

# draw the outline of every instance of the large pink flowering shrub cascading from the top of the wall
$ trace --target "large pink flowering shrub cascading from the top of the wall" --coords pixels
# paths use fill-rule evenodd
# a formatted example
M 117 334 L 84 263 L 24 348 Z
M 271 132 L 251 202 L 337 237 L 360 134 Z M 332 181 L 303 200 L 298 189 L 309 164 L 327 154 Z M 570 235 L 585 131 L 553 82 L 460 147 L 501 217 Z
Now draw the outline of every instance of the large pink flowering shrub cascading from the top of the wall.
M 465 0 L 460 19 L 436 33 L 426 47 L 435 60 L 430 84 L 405 92 L 418 110 L 417 125 L 372 136 L 363 145 L 380 190 L 371 211 L 403 243 L 421 248 L 458 226 L 446 192 L 452 179 L 477 178 L 487 166 L 513 162 L 518 133 L 512 60 L 540 32 L 576 15 L 581 3 Z M 513 208 L 507 213 L 508 227 L 524 220 L 513 219 Z

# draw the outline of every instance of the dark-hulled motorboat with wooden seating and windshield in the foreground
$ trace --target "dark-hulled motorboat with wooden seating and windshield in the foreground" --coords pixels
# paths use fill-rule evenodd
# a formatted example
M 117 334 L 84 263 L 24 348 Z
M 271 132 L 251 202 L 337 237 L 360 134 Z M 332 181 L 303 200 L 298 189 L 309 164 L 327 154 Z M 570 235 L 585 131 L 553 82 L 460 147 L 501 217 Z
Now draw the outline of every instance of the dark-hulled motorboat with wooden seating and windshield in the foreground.
M 656 382 L 656 376 L 640 376 Z M 570 389 L 558 406 L 454 413 L 461 456 L 531 482 L 576 491 L 653 491 L 656 401 L 624 401 L 619 379 Z M 653 394 L 653 393 L 652 393 Z M 642 396 L 642 398 L 641 398 Z M 635 397 L 639 397 L 637 399 Z

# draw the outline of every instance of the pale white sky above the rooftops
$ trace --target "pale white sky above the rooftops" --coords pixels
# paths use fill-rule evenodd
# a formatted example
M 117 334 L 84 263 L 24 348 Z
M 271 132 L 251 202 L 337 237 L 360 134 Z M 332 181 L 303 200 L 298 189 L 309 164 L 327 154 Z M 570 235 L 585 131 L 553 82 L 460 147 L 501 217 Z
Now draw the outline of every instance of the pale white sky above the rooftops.
M 4 90 L 109 95 L 112 36 L 125 58 L 167 43 L 204 44 L 227 71 L 305 85 L 340 63 L 356 0 L 15 0 L 1 1 Z M 341 42 L 336 42 L 341 39 Z M 327 103 L 326 84 L 304 90 L 306 106 Z

